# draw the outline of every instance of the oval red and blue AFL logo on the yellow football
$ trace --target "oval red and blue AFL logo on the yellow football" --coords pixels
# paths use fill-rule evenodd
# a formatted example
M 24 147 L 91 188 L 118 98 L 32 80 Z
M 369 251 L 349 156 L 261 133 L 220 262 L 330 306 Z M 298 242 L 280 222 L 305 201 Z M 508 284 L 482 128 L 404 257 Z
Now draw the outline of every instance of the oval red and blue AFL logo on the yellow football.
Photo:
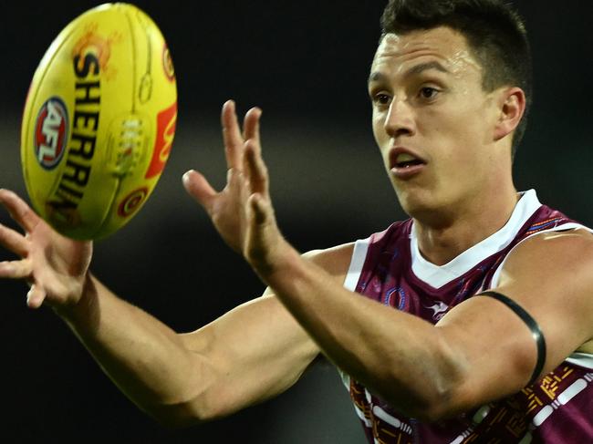
M 68 141 L 68 111 L 57 97 L 48 98 L 37 114 L 35 157 L 45 170 L 53 170 L 64 156 Z

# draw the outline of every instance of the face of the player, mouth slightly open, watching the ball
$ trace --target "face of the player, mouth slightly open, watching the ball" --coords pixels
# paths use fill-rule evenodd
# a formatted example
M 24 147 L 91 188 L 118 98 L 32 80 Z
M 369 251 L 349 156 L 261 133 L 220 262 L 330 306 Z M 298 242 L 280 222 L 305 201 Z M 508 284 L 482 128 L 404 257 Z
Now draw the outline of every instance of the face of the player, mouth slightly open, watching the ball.
M 385 36 L 369 96 L 373 133 L 404 211 L 421 217 L 480 193 L 495 161 L 499 114 L 461 34 L 438 27 Z

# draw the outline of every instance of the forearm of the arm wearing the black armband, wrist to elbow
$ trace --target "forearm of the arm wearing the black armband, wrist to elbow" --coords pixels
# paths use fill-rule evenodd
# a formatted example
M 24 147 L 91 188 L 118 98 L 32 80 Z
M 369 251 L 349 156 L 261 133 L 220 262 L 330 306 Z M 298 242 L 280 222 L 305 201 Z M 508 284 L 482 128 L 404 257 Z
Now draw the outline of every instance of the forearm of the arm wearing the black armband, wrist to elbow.
M 459 377 L 440 329 L 349 292 L 296 252 L 286 257 L 261 275 L 323 352 L 393 407 L 435 414 Z

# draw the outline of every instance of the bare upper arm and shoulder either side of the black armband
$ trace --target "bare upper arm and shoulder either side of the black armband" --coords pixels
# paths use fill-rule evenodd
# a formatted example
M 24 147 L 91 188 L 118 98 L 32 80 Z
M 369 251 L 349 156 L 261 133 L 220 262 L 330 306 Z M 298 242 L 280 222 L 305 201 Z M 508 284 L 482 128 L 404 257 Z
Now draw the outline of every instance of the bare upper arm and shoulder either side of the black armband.
M 494 291 L 522 306 L 546 339 L 543 374 L 593 337 L 593 236 L 545 233 L 509 254 Z M 458 408 L 473 408 L 525 387 L 536 342 L 524 321 L 491 297 L 472 297 L 437 325 L 458 361 Z

